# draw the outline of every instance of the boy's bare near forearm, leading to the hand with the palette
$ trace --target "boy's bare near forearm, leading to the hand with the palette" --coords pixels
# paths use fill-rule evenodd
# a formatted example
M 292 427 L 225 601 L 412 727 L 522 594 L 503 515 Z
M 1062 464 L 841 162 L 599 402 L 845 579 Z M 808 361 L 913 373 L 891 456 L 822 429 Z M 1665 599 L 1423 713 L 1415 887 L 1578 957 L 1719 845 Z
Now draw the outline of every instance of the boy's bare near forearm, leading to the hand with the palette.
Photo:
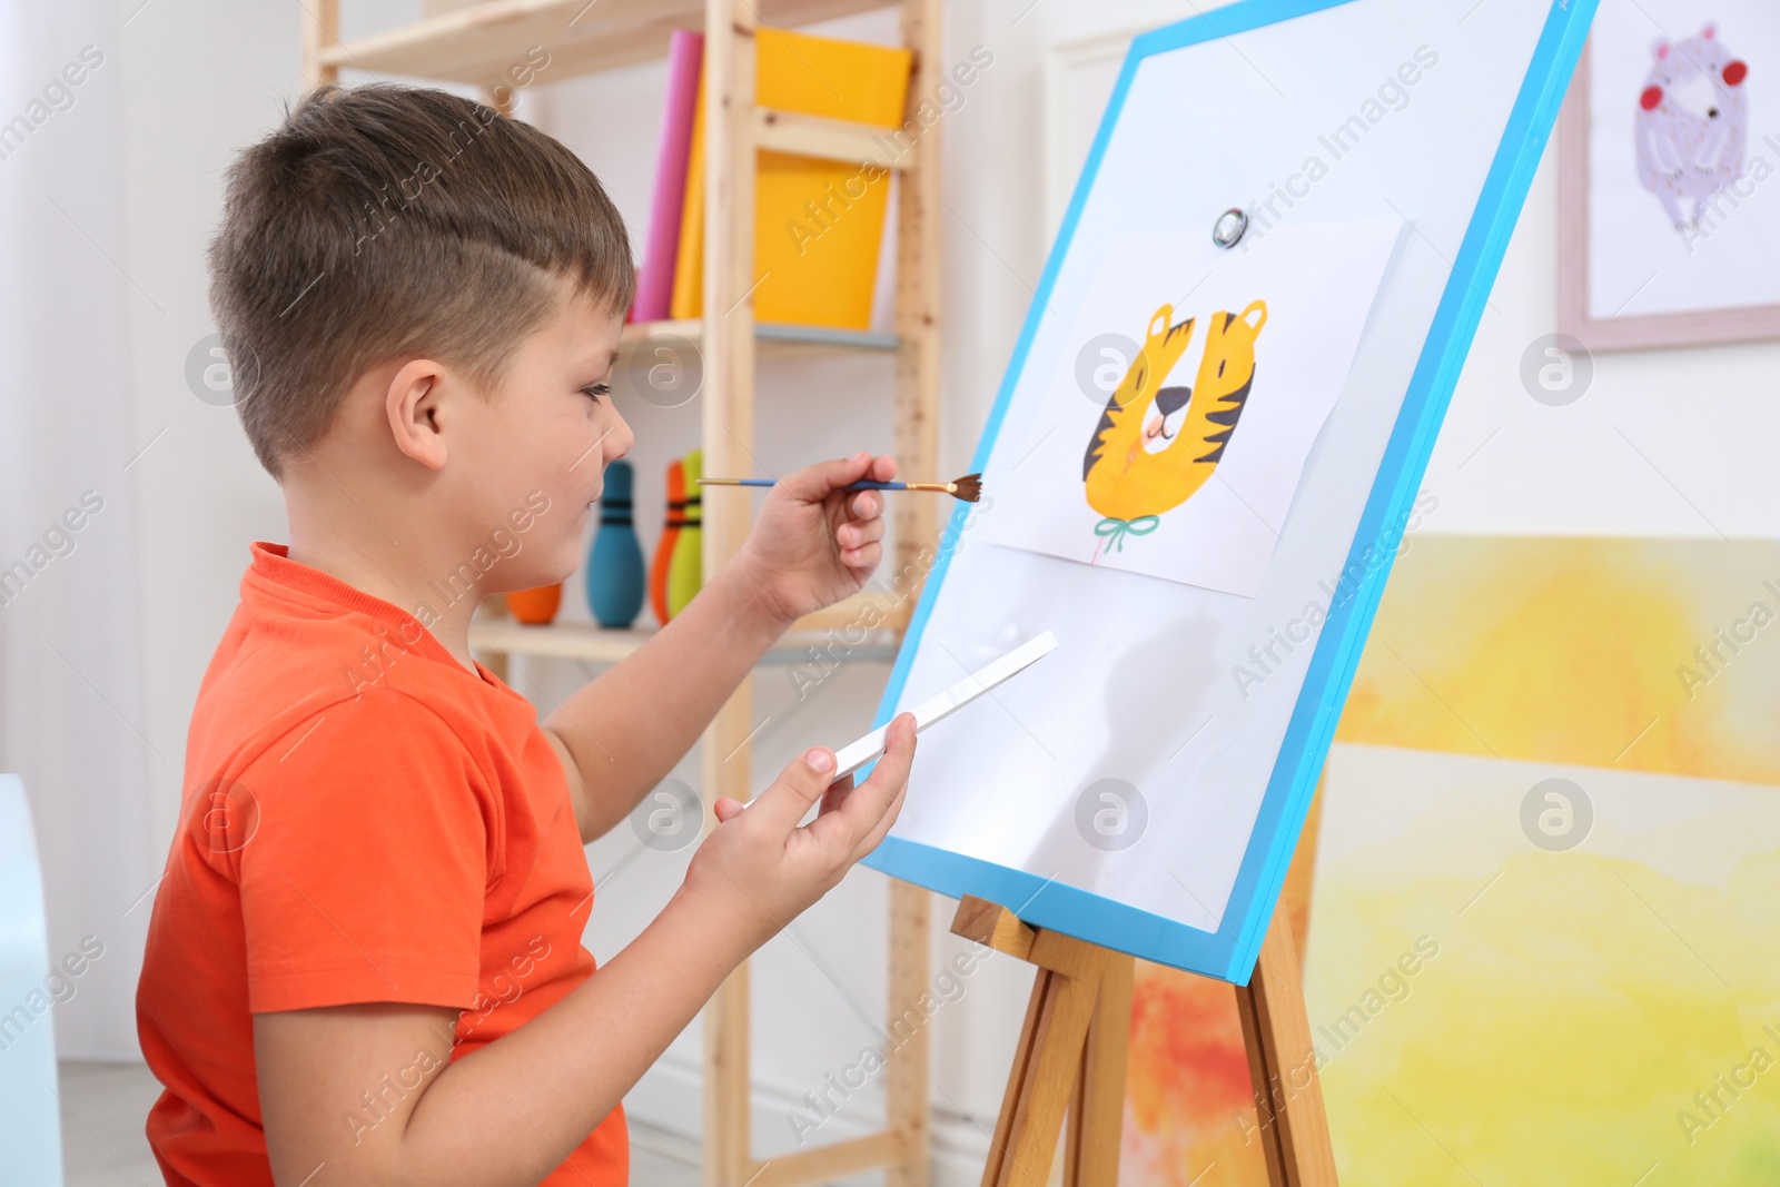
M 534 1183 L 578 1146 L 748 956 L 685 892 L 513 1034 L 450 1064 L 415 1105 L 399 1182 Z

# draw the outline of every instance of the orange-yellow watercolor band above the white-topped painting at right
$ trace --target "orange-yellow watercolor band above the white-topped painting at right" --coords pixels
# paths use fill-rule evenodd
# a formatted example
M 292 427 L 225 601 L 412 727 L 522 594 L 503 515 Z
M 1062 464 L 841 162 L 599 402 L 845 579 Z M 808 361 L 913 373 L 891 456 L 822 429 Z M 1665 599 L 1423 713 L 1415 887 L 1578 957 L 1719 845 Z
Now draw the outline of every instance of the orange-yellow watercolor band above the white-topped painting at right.
M 1776 591 L 1769 541 L 1417 537 L 1335 737 L 1780 783 L 1780 621 L 1718 634 Z

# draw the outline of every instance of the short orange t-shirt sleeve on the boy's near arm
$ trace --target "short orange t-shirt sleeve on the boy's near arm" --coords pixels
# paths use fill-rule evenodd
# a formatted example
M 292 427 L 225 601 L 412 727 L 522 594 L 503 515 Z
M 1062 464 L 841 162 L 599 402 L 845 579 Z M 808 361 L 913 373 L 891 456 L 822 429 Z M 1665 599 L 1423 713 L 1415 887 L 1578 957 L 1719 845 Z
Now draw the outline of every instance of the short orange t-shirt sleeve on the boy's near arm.
M 240 778 L 247 1009 L 468 1007 L 498 817 L 440 715 L 390 690 L 329 707 Z

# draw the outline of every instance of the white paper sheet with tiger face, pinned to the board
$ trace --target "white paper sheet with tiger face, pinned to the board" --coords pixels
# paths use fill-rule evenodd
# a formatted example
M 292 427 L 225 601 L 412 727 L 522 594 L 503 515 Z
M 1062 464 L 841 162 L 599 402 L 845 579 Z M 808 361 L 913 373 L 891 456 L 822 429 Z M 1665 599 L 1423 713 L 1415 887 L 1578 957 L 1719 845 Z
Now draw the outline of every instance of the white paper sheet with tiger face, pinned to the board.
M 1365 219 L 1250 228 L 1235 249 L 1114 240 L 988 539 L 1253 596 L 1401 233 Z

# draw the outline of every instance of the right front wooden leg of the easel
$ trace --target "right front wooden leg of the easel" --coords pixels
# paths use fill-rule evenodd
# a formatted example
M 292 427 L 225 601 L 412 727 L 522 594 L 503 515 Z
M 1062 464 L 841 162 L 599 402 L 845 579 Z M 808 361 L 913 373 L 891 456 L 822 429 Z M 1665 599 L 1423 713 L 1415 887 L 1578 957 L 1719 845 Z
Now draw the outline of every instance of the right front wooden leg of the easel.
M 1248 1045 L 1267 1182 L 1273 1187 L 1335 1187 L 1335 1151 L 1283 906 L 1273 913 L 1255 975 L 1235 988 L 1235 1005 Z

